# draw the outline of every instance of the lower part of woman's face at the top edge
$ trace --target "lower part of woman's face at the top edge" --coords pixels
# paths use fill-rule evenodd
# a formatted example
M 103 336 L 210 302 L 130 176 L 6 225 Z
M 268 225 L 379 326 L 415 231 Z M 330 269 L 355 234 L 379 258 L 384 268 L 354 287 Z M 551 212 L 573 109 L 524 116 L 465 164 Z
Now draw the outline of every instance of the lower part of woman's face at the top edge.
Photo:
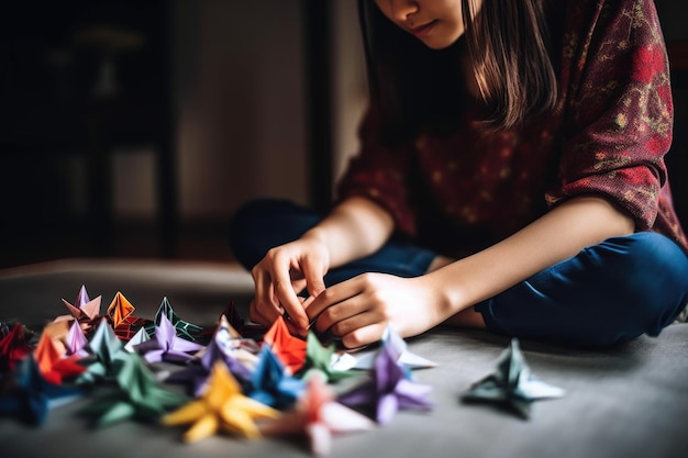
M 465 32 L 462 0 L 375 0 L 382 14 L 428 47 L 442 49 Z M 474 0 L 476 11 L 482 0 Z

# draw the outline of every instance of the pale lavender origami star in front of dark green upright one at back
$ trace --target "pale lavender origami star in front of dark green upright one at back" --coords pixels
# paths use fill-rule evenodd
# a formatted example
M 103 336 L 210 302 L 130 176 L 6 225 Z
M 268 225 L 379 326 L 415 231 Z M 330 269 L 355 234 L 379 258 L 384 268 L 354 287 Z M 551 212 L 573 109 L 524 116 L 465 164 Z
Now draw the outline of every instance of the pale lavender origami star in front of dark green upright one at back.
M 175 326 L 167 316 L 160 316 L 159 326 L 155 327 L 155 336 L 136 347 L 148 362 L 181 362 L 193 359 L 191 353 L 203 348 L 195 342 L 177 337 Z

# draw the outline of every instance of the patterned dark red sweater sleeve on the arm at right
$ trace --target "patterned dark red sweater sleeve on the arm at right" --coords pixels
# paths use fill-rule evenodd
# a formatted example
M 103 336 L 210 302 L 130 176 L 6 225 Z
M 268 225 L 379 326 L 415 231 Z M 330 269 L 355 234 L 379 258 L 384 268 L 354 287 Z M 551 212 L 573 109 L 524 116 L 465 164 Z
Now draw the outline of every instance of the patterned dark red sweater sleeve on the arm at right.
M 547 202 L 603 196 L 653 226 L 666 181 L 673 103 L 666 47 L 652 0 L 570 2 L 559 182 Z M 581 26 L 582 25 L 582 26 Z

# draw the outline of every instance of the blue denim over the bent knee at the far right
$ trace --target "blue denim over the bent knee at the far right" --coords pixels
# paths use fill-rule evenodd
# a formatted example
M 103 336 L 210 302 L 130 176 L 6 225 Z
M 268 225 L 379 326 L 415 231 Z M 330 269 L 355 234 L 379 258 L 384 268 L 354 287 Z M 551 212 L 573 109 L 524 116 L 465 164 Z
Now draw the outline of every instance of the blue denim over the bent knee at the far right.
M 582 249 L 476 305 L 488 328 L 580 346 L 656 336 L 688 302 L 688 258 L 643 232 Z

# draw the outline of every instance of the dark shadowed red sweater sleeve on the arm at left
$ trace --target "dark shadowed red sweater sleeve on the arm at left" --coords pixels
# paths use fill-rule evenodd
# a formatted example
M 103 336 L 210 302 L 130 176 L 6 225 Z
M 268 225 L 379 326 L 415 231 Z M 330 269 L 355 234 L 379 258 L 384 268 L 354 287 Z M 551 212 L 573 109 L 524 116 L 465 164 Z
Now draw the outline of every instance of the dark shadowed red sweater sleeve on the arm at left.
M 358 127 L 359 150 L 337 182 L 337 199 L 364 197 L 392 216 L 397 232 L 413 236 L 415 215 L 409 202 L 409 146 L 388 147 L 379 139 L 377 110 L 370 107 Z

